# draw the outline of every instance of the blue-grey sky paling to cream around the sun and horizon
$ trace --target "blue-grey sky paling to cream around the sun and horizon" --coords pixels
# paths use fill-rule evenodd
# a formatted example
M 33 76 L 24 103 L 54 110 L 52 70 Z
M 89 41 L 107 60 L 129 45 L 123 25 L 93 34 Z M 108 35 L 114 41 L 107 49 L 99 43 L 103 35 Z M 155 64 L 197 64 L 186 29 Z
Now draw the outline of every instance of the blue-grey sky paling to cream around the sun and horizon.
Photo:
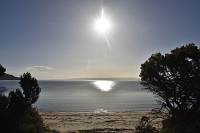
M 0 64 L 38 79 L 139 77 L 153 53 L 200 46 L 199 0 L 1 0 Z M 111 29 L 94 30 L 101 10 Z M 109 45 L 108 45 L 109 43 Z

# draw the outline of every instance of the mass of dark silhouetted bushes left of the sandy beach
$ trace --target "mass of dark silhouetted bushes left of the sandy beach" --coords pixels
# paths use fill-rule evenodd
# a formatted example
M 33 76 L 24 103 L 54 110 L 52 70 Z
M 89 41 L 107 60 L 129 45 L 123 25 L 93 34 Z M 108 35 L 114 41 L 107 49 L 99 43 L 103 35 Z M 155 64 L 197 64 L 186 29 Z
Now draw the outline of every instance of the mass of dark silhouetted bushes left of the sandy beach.
M 1 75 L 5 68 L 0 65 Z M 51 132 L 45 127 L 33 104 L 38 100 L 40 87 L 30 73 L 24 73 L 19 82 L 21 88 L 0 94 L 0 132 L 2 133 L 44 133 Z

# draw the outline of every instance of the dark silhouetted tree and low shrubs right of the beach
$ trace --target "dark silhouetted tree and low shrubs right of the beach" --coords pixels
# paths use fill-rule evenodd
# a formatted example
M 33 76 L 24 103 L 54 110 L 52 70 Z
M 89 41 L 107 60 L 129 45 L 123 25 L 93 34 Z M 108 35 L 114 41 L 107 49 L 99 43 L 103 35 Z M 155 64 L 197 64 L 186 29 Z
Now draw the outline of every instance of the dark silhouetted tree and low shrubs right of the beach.
M 188 44 L 165 55 L 153 54 L 141 65 L 140 77 L 161 104 L 157 113 L 166 114 L 161 133 L 200 132 L 200 48 Z M 138 133 L 152 133 L 144 131 L 149 129 L 146 120 L 141 122 Z

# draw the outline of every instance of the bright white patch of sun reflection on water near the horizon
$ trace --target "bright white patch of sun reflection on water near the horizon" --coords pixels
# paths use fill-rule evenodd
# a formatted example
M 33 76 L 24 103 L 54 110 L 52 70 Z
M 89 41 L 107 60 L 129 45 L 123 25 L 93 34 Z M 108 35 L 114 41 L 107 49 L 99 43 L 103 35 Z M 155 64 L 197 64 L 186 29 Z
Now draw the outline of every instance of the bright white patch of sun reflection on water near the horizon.
M 107 81 L 107 80 L 99 80 L 93 82 L 93 84 L 100 89 L 101 91 L 108 92 L 112 89 L 112 87 L 115 85 L 113 81 Z

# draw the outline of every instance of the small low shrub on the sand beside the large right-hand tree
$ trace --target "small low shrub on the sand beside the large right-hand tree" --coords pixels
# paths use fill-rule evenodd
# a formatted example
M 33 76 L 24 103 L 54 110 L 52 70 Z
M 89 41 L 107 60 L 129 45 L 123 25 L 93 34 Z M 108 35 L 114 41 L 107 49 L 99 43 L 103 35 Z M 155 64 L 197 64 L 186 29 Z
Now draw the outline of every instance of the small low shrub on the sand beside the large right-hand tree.
M 158 130 L 156 130 L 155 127 L 153 127 L 150 118 L 143 116 L 138 124 L 136 126 L 136 133 L 158 133 Z

